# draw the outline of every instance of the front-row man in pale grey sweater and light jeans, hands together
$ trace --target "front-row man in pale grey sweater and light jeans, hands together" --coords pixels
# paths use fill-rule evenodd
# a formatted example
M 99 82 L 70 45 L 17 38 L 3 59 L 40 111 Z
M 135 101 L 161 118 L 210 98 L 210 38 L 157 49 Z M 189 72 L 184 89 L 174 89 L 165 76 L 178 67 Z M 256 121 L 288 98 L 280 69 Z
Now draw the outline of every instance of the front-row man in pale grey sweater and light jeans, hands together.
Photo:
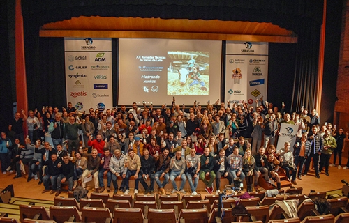
M 186 174 L 184 174 L 184 171 L 186 171 L 186 160 L 184 157 L 181 157 L 181 151 L 177 151 L 176 155 L 171 158 L 170 162 L 170 180 L 173 186 L 172 193 L 175 192 L 182 192 L 186 193 L 186 191 L 183 189 L 184 185 L 186 185 Z M 177 187 L 175 179 L 181 178 L 181 187 Z

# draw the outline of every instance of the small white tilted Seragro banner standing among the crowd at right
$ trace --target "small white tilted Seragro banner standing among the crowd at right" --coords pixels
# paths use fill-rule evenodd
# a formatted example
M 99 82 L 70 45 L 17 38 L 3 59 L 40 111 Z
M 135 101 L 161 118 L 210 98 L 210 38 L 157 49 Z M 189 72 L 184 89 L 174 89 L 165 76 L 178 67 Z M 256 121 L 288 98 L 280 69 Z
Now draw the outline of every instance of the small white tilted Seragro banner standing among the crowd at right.
M 295 145 L 296 138 L 297 138 L 297 130 L 298 130 L 297 125 L 281 123 L 278 145 L 276 146 L 277 153 L 279 153 L 279 151 L 282 148 L 285 148 L 286 141 L 288 141 L 290 143 L 290 145 L 291 145 L 290 151 L 293 152 L 293 145 Z

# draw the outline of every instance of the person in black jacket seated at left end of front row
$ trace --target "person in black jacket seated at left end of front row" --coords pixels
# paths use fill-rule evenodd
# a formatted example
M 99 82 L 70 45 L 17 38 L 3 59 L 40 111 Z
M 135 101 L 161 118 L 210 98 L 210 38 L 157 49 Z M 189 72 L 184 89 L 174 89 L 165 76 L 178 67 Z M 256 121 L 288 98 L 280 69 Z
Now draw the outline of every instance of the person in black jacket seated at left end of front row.
M 61 164 L 59 164 L 59 160 L 57 159 L 57 154 L 51 155 L 51 160 L 43 161 L 44 164 L 47 165 L 45 171 L 46 175 L 43 177 L 43 183 L 45 186 L 45 190 L 42 193 L 50 191 L 50 182 L 52 191 L 50 194 L 53 194 L 57 190 L 57 178 L 59 174 L 61 174 Z

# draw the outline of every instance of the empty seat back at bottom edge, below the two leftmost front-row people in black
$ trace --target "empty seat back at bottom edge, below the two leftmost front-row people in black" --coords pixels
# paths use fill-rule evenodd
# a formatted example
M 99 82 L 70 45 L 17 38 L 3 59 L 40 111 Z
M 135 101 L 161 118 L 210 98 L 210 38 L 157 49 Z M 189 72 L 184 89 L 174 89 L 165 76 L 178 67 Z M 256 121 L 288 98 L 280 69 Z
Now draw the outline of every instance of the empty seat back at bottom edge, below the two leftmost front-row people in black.
M 75 206 L 70 207 L 50 207 L 50 219 L 56 222 L 81 222 L 81 215 Z

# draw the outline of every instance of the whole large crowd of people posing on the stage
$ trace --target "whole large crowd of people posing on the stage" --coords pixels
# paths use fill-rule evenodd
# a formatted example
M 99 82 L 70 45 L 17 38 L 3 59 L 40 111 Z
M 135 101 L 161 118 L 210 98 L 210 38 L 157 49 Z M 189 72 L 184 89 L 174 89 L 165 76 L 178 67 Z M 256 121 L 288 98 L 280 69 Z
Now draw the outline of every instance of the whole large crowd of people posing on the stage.
M 62 183 L 73 190 L 80 181 L 86 187 L 92 178 L 96 192 L 110 192 L 112 184 L 114 193 L 128 194 L 133 177 L 135 194 L 139 183 L 144 194 L 154 194 L 155 183 L 158 192 L 165 194 L 169 181 L 173 193 L 186 193 L 186 180 L 191 194 L 197 194 L 199 180 L 211 194 L 220 192 L 221 178 L 227 178 L 230 185 L 246 180 L 246 190 L 251 192 L 253 187 L 258 190 L 262 175 L 280 188 L 281 170 L 295 185 L 308 173 L 311 160 L 317 178 L 321 171 L 329 176 L 329 166 L 336 166 L 337 155 L 341 169 L 349 132 L 343 128 L 336 132 L 336 125 L 320 123 L 315 109 L 309 116 L 303 107 L 292 114 L 283 112 L 284 107 L 279 112 L 260 98 L 255 106 L 217 101 L 202 107 L 195 101 L 186 109 L 173 98 L 170 107 L 156 109 L 145 104 L 140 108 L 135 102 L 128 111 L 126 106 L 105 112 L 91 108 L 86 114 L 71 103 L 61 112 L 58 107 L 43 107 L 41 112 L 29 110 L 27 116 L 22 109 L 11 121 L 8 137 L 1 132 L 1 171 L 15 171 L 14 178 L 20 178 L 28 165 L 27 181 L 34 178 L 39 185 L 43 183 L 43 193 L 58 196 Z M 296 125 L 297 140 L 295 144 L 285 142 L 276 151 L 281 123 Z M 47 136 L 52 144 L 45 141 Z M 334 163 L 329 164 L 332 153 Z M 343 169 L 349 169 L 349 161 Z M 103 178 L 107 178 L 106 188 Z M 176 180 L 181 180 L 179 186 Z

